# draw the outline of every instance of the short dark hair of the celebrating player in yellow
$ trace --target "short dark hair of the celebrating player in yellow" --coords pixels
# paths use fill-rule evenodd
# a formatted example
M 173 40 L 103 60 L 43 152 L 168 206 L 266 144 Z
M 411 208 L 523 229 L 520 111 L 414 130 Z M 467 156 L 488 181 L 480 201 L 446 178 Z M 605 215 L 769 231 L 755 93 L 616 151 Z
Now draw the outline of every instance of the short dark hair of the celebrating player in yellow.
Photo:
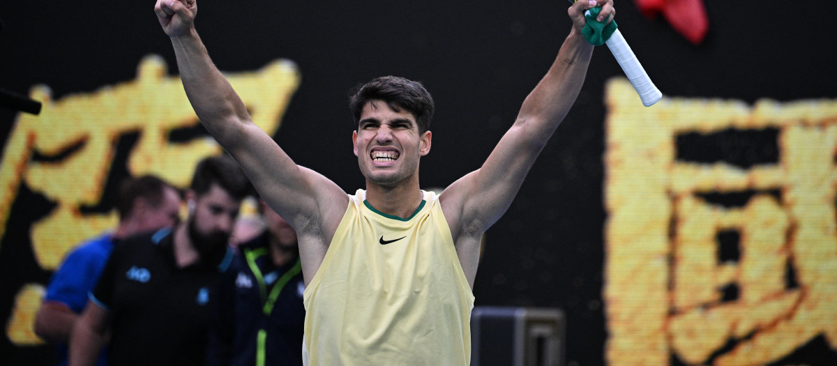
M 396 112 L 401 109 L 412 113 L 419 125 L 419 133 L 424 134 L 430 129 L 430 119 L 436 108 L 433 97 L 418 81 L 399 78 L 398 76 L 383 76 L 367 84 L 358 85 L 349 97 L 349 109 L 355 119 L 355 130 L 360 126 L 363 106 L 372 99 L 383 100 L 389 108 Z

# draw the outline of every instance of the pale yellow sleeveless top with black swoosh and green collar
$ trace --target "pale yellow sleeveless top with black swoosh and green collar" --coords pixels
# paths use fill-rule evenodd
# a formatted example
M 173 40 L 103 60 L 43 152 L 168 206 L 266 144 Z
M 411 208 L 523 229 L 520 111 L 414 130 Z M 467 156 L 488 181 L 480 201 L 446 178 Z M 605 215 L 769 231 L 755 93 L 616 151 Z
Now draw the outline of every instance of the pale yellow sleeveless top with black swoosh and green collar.
M 304 352 L 311 365 L 467 365 L 474 295 L 439 196 L 408 219 L 349 206 L 306 287 Z

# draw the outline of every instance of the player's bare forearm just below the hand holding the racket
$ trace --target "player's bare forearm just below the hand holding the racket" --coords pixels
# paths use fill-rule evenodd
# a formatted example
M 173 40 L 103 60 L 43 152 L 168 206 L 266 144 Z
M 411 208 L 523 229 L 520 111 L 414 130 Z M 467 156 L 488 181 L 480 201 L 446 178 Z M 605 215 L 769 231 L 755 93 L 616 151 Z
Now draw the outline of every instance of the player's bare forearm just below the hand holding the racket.
M 584 84 L 593 45 L 573 28 L 547 74 L 524 100 L 517 124 L 545 144 L 575 103 Z

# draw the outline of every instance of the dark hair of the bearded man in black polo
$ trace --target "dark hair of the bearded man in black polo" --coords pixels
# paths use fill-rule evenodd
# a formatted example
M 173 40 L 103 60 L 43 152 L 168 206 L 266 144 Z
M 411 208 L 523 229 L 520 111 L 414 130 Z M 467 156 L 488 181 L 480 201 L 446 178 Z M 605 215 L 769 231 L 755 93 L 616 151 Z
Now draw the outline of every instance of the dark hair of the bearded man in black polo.
M 189 188 L 198 196 L 203 196 L 213 184 L 226 191 L 237 200 L 244 199 L 252 191 L 247 176 L 229 155 L 209 156 L 198 162 Z

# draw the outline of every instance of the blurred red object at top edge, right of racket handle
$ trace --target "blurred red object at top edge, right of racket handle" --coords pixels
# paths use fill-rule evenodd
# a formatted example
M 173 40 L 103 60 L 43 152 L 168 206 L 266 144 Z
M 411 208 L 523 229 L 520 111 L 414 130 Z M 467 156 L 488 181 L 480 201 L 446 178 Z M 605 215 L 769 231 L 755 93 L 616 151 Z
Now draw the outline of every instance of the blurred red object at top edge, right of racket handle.
M 694 44 L 703 42 L 709 30 L 709 18 L 701 0 L 634 0 L 646 18 L 654 19 L 663 13 L 677 33 Z

